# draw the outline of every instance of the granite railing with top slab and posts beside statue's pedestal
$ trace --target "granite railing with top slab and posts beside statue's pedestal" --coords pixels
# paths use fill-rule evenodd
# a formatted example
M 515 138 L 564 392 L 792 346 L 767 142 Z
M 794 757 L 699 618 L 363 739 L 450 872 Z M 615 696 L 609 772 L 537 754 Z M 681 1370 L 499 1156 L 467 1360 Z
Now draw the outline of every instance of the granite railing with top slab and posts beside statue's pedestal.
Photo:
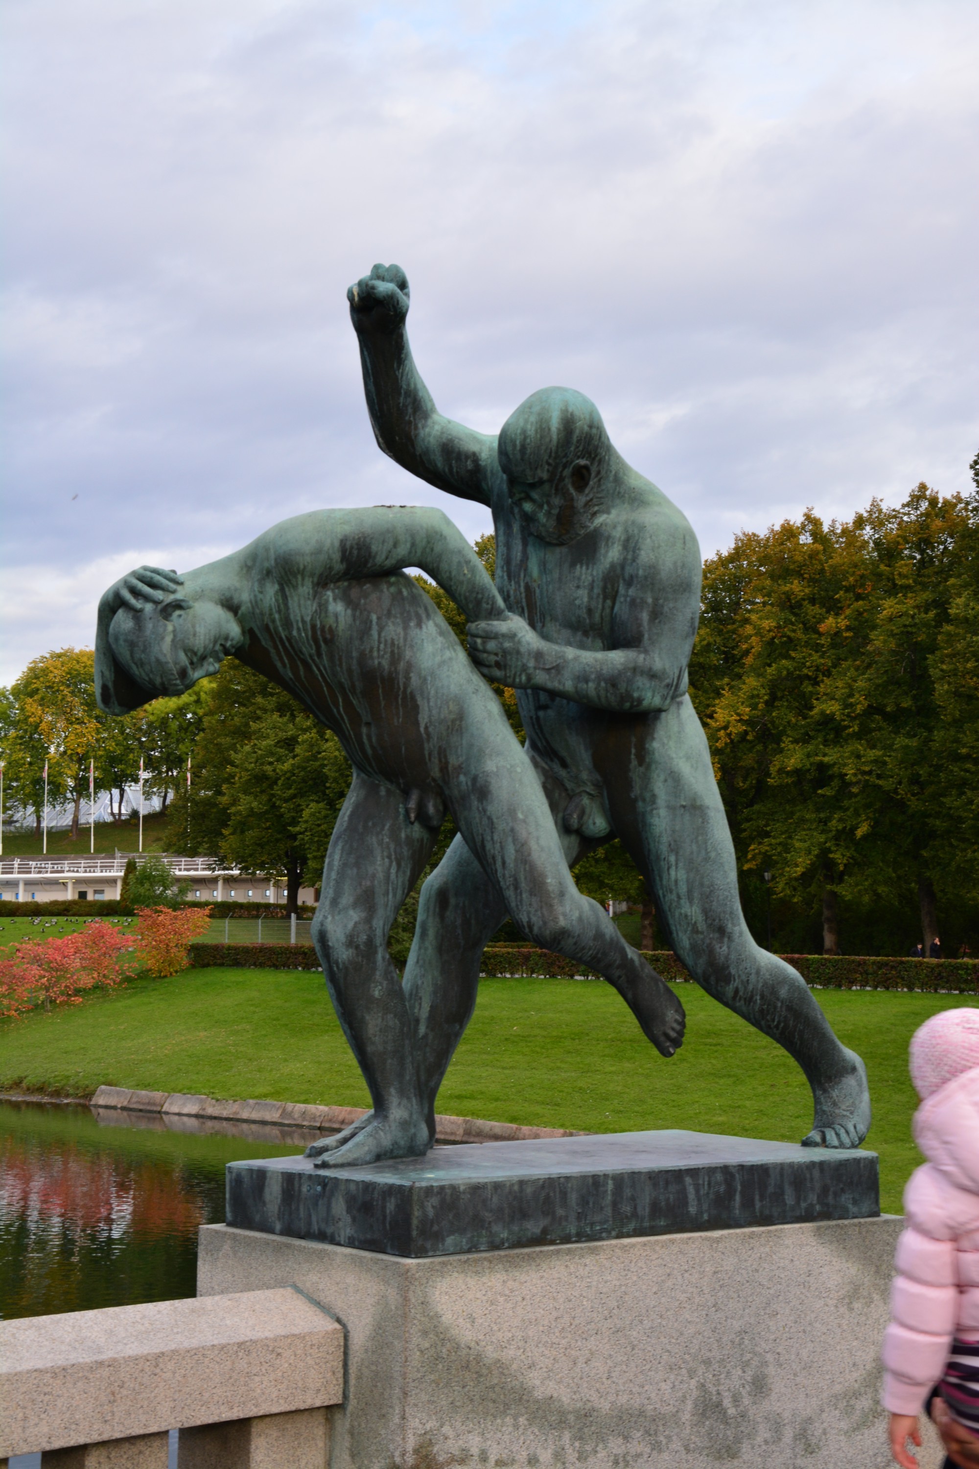
M 343 1328 L 295 1287 L 0 1322 L 0 1469 L 326 1469 Z

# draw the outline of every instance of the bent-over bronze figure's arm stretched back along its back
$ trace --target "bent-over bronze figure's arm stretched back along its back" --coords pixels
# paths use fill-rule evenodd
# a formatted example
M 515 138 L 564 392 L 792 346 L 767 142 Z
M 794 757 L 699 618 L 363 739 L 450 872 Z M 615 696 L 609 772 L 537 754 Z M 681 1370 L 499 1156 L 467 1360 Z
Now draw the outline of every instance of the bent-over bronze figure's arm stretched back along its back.
M 261 579 L 351 582 L 417 566 L 467 618 L 506 617 L 506 607 L 473 546 L 448 516 L 427 507 L 314 510 L 283 520 L 252 542 Z M 248 552 L 245 552 L 248 554 Z

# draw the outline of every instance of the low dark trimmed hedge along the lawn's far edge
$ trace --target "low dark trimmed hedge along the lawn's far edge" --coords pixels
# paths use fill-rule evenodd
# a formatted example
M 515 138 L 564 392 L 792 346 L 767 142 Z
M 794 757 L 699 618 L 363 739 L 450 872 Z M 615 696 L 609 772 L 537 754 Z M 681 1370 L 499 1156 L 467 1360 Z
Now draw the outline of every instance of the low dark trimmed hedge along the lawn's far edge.
M 690 975 L 675 953 L 668 949 L 646 953 L 658 974 L 674 984 L 690 983 Z M 822 990 L 919 990 L 935 995 L 979 995 L 979 961 L 976 959 L 881 959 L 822 953 L 784 953 L 787 964 L 798 970 L 812 989 Z M 319 970 L 310 943 L 192 943 L 191 964 L 195 968 L 235 970 Z M 597 980 L 589 970 L 561 953 L 547 953 L 530 945 L 490 945 L 483 953 L 480 972 L 496 978 L 555 978 L 577 977 Z

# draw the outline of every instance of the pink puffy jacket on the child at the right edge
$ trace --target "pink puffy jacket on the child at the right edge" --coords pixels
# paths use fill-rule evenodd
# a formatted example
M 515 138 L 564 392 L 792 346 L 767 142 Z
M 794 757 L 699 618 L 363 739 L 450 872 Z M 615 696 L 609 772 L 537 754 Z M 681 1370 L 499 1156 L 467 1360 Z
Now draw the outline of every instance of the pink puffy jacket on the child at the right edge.
M 914 1140 L 928 1162 L 904 1190 L 882 1398 L 909 1415 L 944 1375 L 953 1335 L 979 1338 L 979 1066 L 922 1102 Z

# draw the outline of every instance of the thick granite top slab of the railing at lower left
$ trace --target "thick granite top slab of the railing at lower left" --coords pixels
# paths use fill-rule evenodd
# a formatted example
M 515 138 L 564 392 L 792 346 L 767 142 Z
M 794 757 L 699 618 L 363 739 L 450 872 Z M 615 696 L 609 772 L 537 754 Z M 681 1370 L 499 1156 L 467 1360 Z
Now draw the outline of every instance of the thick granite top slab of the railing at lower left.
M 0 1460 L 342 1400 L 343 1328 L 292 1285 L 0 1322 Z

